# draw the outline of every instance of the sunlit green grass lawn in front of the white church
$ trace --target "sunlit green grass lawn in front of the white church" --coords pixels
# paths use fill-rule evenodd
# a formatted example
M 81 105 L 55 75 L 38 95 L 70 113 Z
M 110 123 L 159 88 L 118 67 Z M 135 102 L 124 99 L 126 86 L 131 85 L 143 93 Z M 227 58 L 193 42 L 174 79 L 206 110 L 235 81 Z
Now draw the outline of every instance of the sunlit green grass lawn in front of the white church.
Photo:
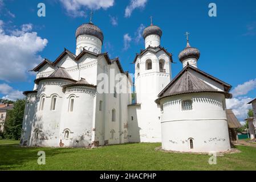
M 0 170 L 256 170 L 256 147 L 238 146 L 239 154 L 217 157 L 155 151 L 160 143 L 135 143 L 84 148 L 19 147 L 18 141 L 0 140 Z M 46 165 L 38 165 L 38 151 Z

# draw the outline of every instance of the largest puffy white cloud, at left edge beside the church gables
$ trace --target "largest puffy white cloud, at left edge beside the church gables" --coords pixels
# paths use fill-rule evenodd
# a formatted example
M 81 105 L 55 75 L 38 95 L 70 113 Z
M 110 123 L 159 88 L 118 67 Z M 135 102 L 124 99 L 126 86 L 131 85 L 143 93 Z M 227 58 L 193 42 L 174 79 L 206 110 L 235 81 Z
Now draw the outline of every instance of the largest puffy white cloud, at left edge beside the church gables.
M 28 70 L 42 61 L 38 52 L 46 47 L 48 41 L 36 32 L 29 32 L 31 29 L 32 24 L 24 24 L 21 30 L 7 35 L 0 20 L 0 80 L 26 81 Z

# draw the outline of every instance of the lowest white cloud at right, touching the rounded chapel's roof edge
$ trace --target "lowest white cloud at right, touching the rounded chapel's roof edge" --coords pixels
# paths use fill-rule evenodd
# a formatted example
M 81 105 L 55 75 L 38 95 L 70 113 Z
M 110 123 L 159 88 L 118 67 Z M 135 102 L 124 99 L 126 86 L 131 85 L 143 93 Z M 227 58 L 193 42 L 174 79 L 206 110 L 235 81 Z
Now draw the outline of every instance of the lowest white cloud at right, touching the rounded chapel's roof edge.
M 233 109 L 235 116 L 239 121 L 247 118 L 247 112 L 251 105 L 247 104 L 252 99 L 249 97 L 231 98 L 226 100 L 227 109 Z

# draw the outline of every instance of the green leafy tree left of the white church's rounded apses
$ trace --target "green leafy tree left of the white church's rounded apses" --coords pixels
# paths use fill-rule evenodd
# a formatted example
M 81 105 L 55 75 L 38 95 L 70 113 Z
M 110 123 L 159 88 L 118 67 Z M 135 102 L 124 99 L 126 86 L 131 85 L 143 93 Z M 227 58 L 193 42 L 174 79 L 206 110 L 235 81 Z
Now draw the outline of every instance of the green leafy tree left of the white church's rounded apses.
M 7 110 L 5 119 L 5 138 L 19 140 L 21 138 L 22 122 L 26 100 L 17 100 L 13 110 Z

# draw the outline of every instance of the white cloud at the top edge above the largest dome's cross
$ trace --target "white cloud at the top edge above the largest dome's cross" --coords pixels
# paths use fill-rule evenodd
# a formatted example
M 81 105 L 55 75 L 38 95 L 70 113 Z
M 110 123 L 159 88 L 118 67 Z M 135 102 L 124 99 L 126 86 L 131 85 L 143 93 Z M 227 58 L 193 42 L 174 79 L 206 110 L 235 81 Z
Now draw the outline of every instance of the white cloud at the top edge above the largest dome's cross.
M 114 5 L 115 0 L 59 0 L 68 15 L 78 17 L 85 16 L 84 7 L 92 10 L 108 9 Z

